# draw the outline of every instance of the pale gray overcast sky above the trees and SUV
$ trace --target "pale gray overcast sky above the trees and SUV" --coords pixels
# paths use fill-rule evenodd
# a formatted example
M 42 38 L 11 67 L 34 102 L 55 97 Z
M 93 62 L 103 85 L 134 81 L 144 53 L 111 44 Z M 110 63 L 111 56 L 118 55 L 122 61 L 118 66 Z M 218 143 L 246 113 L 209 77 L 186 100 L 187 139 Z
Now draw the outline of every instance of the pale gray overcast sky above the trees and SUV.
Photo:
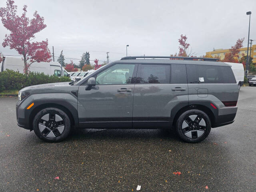
M 19 15 L 28 6 L 31 19 L 37 10 L 47 27 L 35 34 L 34 41 L 48 38 L 55 56 L 63 49 L 67 58 L 90 52 L 90 60 L 111 61 L 126 56 L 169 56 L 178 52 L 178 38 L 186 34 L 196 56 L 213 48 L 230 48 L 238 38 L 247 46 L 256 40 L 256 0 L 15 0 Z M 0 1 L 0 7 L 6 0 Z M 0 22 L 0 52 L 17 55 L 3 48 L 8 30 Z M 256 41 L 253 43 L 256 44 Z M 79 60 L 74 59 L 74 63 Z M 65 62 L 69 62 L 68 59 Z

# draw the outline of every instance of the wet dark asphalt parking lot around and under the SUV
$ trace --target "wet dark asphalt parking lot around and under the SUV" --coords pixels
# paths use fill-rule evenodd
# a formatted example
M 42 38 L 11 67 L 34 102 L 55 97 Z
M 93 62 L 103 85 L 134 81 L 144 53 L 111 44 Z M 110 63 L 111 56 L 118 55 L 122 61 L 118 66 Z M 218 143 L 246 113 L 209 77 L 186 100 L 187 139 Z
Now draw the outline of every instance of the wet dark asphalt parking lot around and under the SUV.
M 0 98 L 1 192 L 256 191 L 256 87 L 241 88 L 233 124 L 197 144 L 161 129 L 79 130 L 46 143 L 16 125 L 16 102 Z

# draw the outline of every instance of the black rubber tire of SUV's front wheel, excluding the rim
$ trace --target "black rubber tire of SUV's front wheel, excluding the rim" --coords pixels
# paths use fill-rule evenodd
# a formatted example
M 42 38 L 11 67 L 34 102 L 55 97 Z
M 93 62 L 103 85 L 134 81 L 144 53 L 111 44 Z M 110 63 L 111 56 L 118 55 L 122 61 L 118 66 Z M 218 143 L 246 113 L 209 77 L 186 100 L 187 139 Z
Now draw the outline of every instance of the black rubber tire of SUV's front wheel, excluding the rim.
M 58 114 L 64 121 L 64 126 L 65 126 L 64 131 L 62 132 L 62 134 L 60 136 L 58 136 L 56 138 L 47 138 L 46 136 L 43 136 L 38 127 L 39 120 L 42 118 L 42 116 L 44 116 L 45 114 L 48 114 L 50 112 Z M 45 109 L 41 110 L 40 112 L 38 112 L 33 120 L 33 130 L 34 130 L 36 136 L 38 136 L 38 138 L 40 138 L 46 142 L 59 142 L 59 141 L 64 140 L 70 133 L 70 129 L 71 129 L 70 118 L 64 111 L 62 111 L 58 108 L 45 108 Z

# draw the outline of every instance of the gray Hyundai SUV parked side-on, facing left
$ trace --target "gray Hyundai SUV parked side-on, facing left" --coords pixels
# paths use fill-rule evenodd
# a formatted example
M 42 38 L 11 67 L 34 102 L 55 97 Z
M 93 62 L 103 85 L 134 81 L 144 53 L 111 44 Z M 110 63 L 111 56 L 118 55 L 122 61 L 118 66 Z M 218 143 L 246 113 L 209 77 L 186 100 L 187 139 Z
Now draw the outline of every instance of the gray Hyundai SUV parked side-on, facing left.
M 237 111 L 232 69 L 216 60 L 124 57 L 78 82 L 26 87 L 18 126 L 47 142 L 73 128 L 175 128 L 185 142 L 200 142 L 211 128 L 234 122 Z

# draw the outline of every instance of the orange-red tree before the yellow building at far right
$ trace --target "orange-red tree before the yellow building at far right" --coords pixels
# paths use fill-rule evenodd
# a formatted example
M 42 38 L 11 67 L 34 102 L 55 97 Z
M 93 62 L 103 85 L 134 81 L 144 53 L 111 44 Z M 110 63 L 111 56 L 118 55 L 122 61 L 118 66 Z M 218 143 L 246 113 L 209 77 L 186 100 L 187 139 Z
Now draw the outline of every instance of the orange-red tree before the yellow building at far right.
M 222 62 L 232 62 L 232 63 L 238 63 L 238 53 L 240 51 L 240 48 L 243 47 L 244 38 L 238 39 L 236 41 L 236 44 L 234 46 L 231 46 L 229 49 L 230 52 L 225 54 L 225 57 Z

